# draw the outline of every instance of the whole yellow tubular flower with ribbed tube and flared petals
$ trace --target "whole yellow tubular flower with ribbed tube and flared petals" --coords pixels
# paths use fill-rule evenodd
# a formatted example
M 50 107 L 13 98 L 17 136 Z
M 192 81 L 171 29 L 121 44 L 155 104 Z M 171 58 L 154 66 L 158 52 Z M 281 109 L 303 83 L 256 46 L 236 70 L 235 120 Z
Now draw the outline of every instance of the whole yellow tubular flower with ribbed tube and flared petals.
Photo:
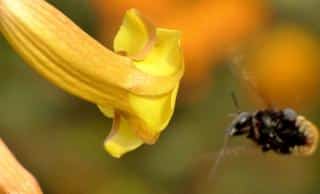
M 0 30 L 31 67 L 113 118 L 112 156 L 154 143 L 172 117 L 184 71 L 178 31 L 131 9 L 112 52 L 43 0 L 0 0 Z

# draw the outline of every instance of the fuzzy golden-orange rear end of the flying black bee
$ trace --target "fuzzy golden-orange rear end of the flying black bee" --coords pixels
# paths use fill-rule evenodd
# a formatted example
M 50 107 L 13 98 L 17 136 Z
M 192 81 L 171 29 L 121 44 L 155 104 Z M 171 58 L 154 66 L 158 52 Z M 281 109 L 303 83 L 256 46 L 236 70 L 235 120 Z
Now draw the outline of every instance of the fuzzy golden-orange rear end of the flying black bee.
M 303 116 L 297 117 L 296 126 L 305 135 L 306 144 L 294 147 L 292 153 L 302 156 L 312 155 L 318 146 L 319 132 L 317 127 Z

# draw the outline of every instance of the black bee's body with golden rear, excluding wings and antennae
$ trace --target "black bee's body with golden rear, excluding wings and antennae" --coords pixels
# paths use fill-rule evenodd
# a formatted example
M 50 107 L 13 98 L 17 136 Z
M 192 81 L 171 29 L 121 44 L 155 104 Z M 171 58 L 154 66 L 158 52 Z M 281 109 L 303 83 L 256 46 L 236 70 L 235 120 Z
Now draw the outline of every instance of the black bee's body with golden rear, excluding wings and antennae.
M 263 152 L 272 150 L 279 154 L 304 156 L 314 153 L 319 136 L 315 125 L 290 108 L 240 112 L 228 135 L 246 135 Z

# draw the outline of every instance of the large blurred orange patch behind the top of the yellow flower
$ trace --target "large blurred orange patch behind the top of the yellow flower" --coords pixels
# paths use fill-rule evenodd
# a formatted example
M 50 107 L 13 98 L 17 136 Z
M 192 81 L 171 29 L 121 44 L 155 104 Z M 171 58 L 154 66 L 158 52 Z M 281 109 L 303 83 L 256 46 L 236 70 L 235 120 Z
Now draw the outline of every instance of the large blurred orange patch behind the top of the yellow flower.
M 132 7 L 141 10 L 157 26 L 179 29 L 183 34 L 186 63 L 183 82 L 189 87 L 203 85 L 227 50 L 263 26 L 269 13 L 263 0 L 92 2 L 100 18 L 100 37 L 109 45 L 123 13 Z

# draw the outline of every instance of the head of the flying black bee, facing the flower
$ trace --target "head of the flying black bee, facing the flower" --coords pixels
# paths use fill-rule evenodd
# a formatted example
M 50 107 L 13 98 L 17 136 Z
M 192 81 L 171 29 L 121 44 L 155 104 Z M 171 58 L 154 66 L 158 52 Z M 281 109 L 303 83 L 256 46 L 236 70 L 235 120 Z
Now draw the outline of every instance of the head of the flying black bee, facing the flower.
M 252 126 L 252 114 L 241 112 L 233 120 L 229 135 L 237 136 L 247 133 Z

